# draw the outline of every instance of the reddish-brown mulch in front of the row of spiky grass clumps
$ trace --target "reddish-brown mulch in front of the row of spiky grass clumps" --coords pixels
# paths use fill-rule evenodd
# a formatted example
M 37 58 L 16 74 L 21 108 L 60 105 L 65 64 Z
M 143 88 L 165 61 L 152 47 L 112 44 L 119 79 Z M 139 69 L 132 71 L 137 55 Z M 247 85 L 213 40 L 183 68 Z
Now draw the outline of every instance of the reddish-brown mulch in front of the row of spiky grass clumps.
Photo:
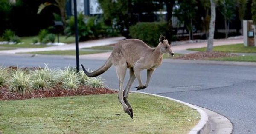
M 73 95 L 96 95 L 96 94 L 113 94 L 117 91 L 106 88 L 90 88 L 88 86 L 81 86 L 77 90 L 64 90 L 55 88 L 53 90 L 34 90 L 32 93 L 23 94 L 9 92 L 8 88 L 0 88 L 0 100 L 24 100 L 31 98 L 45 98 L 45 97 L 64 97 Z

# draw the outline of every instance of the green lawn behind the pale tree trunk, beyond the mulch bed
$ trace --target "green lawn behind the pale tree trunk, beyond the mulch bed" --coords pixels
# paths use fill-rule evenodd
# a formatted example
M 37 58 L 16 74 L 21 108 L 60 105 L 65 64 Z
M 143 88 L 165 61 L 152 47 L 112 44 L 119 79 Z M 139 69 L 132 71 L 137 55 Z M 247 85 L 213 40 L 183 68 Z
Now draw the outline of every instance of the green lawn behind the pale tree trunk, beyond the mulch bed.
M 188 50 L 206 51 L 206 47 L 193 48 Z M 224 46 L 214 46 L 213 51 L 221 51 L 221 52 L 228 52 L 228 53 L 256 53 L 256 47 L 245 47 L 243 44 L 224 45 Z

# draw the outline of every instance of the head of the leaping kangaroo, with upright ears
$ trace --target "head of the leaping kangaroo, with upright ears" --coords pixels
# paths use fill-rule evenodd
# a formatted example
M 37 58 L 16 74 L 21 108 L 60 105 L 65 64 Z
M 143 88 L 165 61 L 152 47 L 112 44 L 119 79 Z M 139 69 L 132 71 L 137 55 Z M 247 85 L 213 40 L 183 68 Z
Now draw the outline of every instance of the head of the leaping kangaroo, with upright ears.
M 171 45 L 168 43 L 168 40 L 163 35 L 160 35 L 159 42 L 160 43 L 157 47 L 160 47 L 160 52 L 161 53 L 168 54 L 168 55 L 171 55 L 171 56 L 174 55 L 174 53 L 171 49 Z

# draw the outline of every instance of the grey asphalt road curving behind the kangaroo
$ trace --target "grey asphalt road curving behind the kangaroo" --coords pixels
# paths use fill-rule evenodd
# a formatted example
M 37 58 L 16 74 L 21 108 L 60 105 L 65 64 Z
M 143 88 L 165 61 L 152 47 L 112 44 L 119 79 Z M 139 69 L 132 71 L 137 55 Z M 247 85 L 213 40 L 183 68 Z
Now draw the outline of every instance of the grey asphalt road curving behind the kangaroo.
M 105 60 L 80 60 L 96 70 Z M 3 66 L 75 66 L 75 59 L 62 56 L 0 55 Z M 102 74 L 109 88 L 118 80 L 112 66 Z M 145 71 L 142 73 L 145 82 Z M 128 80 L 128 73 L 126 81 Z M 133 87 L 137 86 L 137 81 Z M 132 88 L 134 91 L 135 88 Z M 198 105 L 224 115 L 233 123 L 233 134 L 256 134 L 256 67 L 164 62 L 154 72 L 145 92 L 159 94 Z

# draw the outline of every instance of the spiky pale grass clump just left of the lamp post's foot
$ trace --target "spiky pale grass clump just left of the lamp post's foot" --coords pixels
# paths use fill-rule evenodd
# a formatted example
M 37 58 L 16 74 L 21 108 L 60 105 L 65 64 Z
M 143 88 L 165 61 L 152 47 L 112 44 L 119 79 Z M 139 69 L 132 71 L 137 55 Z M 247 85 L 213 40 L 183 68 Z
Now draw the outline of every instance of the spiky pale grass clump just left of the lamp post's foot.
M 70 67 L 67 67 L 65 70 L 60 70 L 59 80 L 61 82 L 61 88 L 67 90 L 77 89 L 80 85 L 76 70 Z

